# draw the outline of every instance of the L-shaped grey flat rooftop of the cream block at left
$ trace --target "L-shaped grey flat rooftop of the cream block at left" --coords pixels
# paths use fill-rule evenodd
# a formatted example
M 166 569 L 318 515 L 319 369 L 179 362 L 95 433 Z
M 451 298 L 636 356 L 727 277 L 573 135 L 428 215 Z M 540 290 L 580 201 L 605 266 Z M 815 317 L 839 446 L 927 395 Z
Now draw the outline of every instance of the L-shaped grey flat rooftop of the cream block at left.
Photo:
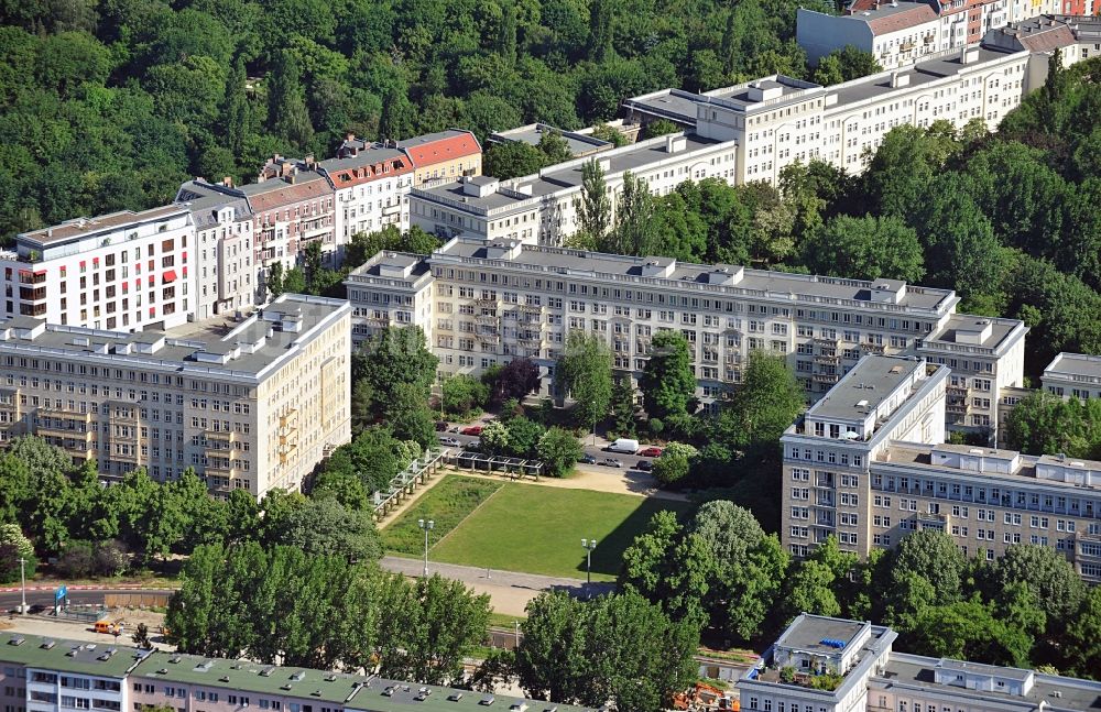
M 89 363 L 126 360 L 162 371 L 203 370 L 259 377 L 297 354 L 301 344 L 313 338 L 313 331 L 327 328 L 350 310 L 344 299 L 285 294 L 240 324 L 224 318 L 188 324 L 178 330 L 178 337 L 174 336 L 177 330 L 127 333 L 19 317 L 0 321 L 0 351 L 37 350 Z M 283 330 L 286 319 L 297 321 L 297 329 Z M 208 360 L 197 354 L 218 358 Z

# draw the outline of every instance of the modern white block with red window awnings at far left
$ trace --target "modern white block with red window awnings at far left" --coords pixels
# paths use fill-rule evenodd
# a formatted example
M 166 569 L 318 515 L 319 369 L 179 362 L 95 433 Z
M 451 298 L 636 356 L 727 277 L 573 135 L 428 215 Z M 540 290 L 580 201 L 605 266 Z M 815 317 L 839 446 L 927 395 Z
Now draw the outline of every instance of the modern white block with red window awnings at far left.
M 3 314 L 120 331 L 172 328 L 195 308 L 194 255 L 194 220 L 176 205 L 24 232 L 14 251 L 0 252 Z

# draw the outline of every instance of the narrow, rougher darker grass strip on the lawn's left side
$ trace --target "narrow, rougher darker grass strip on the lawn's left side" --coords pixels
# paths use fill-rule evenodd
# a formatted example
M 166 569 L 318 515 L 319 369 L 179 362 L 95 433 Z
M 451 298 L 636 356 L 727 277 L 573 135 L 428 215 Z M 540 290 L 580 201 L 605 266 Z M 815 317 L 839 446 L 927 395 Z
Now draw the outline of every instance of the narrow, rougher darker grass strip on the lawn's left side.
M 417 526 L 417 519 L 435 522 L 432 538 L 438 541 L 503 484 L 454 474 L 445 477 L 443 482 L 428 490 L 416 504 L 382 530 L 383 548 L 393 554 L 424 554 L 424 532 Z

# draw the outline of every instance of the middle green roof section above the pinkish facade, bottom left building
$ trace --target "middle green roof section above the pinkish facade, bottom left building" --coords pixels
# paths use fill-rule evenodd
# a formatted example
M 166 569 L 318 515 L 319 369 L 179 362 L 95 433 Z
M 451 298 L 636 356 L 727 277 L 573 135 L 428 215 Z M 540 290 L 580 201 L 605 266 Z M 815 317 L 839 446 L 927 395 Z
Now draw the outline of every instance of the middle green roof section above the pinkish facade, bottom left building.
M 142 660 L 133 675 L 168 682 L 339 704 L 344 704 L 358 686 L 367 681 L 360 675 L 162 651 L 153 653 Z

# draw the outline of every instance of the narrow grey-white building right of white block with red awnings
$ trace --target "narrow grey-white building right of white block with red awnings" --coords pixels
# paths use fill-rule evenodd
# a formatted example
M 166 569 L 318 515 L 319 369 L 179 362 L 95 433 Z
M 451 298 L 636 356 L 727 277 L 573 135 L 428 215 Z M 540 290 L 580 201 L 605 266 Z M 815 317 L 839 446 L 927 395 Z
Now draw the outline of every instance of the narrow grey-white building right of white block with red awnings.
M 252 210 L 209 185 L 188 180 L 176 197 L 195 223 L 195 317 L 249 309 L 255 302 Z

